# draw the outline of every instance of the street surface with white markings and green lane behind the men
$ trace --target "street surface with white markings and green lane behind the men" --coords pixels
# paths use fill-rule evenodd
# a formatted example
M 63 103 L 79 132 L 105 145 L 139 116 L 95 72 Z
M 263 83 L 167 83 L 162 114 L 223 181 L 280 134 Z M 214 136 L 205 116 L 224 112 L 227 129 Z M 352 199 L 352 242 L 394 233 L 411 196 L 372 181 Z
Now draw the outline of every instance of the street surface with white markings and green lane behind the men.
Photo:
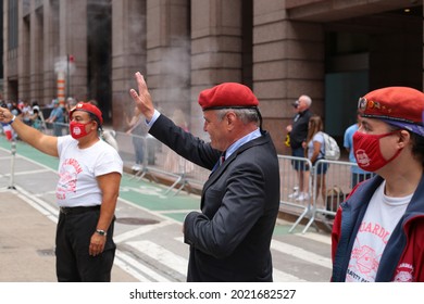
M 54 202 L 58 160 L 0 137 L 0 281 L 54 282 Z M 180 282 L 186 280 L 188 246 L 182 221 L 199 208 L 200 198 L 125 174 L 116 207 L 112 271 L 114 282 Z M 278 220 L 273 242 L 274 280 L 327 282 L 331 237 L 310 229 L 292 233 Z

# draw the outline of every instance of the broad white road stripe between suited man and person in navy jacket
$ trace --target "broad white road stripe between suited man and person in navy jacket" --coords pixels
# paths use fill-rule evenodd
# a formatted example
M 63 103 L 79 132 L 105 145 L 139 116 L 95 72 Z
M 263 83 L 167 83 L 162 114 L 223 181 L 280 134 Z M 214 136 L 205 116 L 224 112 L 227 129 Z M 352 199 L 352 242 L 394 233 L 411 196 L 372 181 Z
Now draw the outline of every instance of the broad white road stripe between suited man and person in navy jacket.
M 271 249 L 282 252 L 284 254 L 295 256 L 296 258 L 300 258 L 303 261 L 307 261 L 312 264 L 316 264 L 326 268 L 332 269 L 332 259 L 324 257 L 322 255 L 315 254 L 313 252 L 305 251 L 304 249 L 290 245 L 284 242 L 279 242 L 276 240 L 272 240 L 271 242 Z

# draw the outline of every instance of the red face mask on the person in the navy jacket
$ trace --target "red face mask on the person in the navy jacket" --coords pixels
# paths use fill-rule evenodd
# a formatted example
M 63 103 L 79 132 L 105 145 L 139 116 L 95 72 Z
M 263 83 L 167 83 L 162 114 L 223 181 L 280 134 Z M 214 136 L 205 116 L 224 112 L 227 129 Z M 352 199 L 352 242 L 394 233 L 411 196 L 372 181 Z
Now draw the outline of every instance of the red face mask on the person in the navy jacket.
M 367 172 L 376 172 L 395 160 L 402 149 L 399 149 L 389 160 L 383 157 L 382 150 L 379 149 L 379 139 L 395 132 L 367 135 L 356 131 L 353 134 L 353 152 L 358 166 Z

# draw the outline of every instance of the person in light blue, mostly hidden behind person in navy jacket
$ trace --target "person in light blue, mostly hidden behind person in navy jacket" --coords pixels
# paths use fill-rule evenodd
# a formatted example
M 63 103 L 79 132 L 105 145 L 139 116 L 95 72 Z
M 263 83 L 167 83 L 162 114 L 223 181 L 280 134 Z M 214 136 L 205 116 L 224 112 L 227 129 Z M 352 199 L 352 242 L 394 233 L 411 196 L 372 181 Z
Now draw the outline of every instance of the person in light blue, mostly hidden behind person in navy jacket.
M 361 126 L 361 115 L 357 114 L 357 123 L 348 127 L 345 131 L 344 147 L 349 153 L 349 162 L 357 163 L 353 154 L 353 134 Z M 364 181 L 373 176 L 372 173 L 361 169 L 359 166 L 352 166 L 351 169 L 350 187 L 353 189 L 358 182 Z

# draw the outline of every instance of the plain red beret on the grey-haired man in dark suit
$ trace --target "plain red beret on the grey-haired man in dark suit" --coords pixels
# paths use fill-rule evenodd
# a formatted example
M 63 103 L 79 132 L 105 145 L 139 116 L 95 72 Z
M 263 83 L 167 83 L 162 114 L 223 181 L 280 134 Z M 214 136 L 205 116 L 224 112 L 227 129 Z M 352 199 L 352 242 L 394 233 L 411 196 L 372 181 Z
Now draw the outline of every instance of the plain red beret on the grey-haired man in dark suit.
M 199 104 L 203 111 L 225 107 L 255 107 L 257 97 L 246 86 L 224 83 L 200 92 Z

